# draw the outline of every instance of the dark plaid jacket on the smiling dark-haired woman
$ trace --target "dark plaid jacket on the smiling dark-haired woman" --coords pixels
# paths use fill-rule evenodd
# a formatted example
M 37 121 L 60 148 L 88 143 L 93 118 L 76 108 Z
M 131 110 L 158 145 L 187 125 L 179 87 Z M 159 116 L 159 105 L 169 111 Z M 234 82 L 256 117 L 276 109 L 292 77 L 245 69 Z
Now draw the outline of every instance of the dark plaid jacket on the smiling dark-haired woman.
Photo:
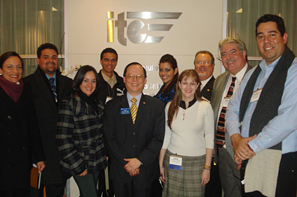
M 72 94 L 60 103 L 57 121 L 57 145 L 62 170 L 79 175 L 106 168 L 103 143 L 103 106 L 95 111 L 79 96 Z

